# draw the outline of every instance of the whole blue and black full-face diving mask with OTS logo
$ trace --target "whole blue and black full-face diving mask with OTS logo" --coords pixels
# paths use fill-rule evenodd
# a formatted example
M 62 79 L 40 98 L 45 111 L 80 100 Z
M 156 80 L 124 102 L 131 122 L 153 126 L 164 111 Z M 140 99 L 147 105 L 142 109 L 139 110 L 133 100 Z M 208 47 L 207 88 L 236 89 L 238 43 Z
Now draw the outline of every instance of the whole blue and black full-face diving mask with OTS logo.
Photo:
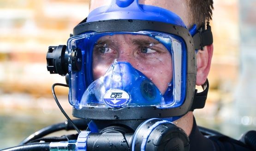
M 211 33 L 210 29 L 205 31 L 206 34 Z M 61 55 L 68 55 L 65 57 L 65 61 L 68 60 L 65 70 L 69 75 L 69 102 L 73 106 L 73 116 L 97 120 L 115 120 L 118 116 L 120 120 L 132 120 L 182 116 L 202 108 L 206 98 L 194 101 L 197 98 L 195 49 L 208 44 L 202 43 L 205 33 L 202 30 L 196 33 L 196 26 L 186 29 L 182 19 L 173 12 L 139 5 L 137 0 L 112 0 L 110 6 L 95 9 L 87 20 L 74 28 L 72 37 L 67 41 L 66 52 L 61 52 Z M 139 50 L 133 54 L 149 52 L 155 55 L 155 52 L 161 52 L 158 45 L 168 52 L 159 53 L 161 57 L 169 55 L 171 64 L 162 64 L 170 70 L 171 77 L 170 81 L 162 83 L 166 85 L 162 93 L 156 87 L 159 82 L 154 83 L 154 79 L 144 74 L 145 70 L 156 72 L 158 68 L 155 66 L 161 62 L 161 57 L 154 57 L 153 60 L 157 59 L 151 62 L 148 61 L 152 58 L 134 57 L 133 64 L 129 59 L 114 61 L 120 58 L 122 51 L 118 47 L 123 45 L 123 41 L 113 39 L 115 35 L 141 35 L 156 41 L 152 46 L 150 42 L 144 42 L 145 39 L 127 45 L 126 48 L 133 48 L 129 51 Z M 100 64 L 102 60 L 104 64 Z M 143 69 L 136 63 L 143 64 Z M 104 72 L 96 77 L 93 74 L 95 69 Z M 59 74 L 64 75 L 65 72 Z M 166 76 L 156 78 L 161 81 Z

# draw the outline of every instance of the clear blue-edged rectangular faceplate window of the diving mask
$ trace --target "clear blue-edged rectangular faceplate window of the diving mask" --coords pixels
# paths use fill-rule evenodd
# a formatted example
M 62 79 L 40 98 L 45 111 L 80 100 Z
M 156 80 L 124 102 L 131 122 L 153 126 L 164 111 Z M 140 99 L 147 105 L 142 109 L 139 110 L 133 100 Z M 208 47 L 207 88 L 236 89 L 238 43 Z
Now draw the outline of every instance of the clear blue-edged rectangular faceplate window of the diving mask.
M 87 54 L 93 58 L 87 67 L 82 64 L 79 72 L 70 74 L 71 90 L 77 90 L 78 86 L 81 92 L 76 91 L 73 94 L 71 91 L 70 94 L 71 104 L 77 109 L 94 107 L 117 110 L 144 106 L 168 109 L 184 103 L 186 49 L 184 41 L 178 36 L 154 31 L 90 33 L 70 38 L 68 49 L 81 50 L 82 56 Z M 126 61 L 120 61 L 119 58 L 126 58 Z M 135 66 L 132 67 L 130 63 Z M 89 75 L 85 74 L 86 69 L 99 69 L 100 73 L 105 75 L 91 80 L 93 82 L 85 90 L 86 83 L 80 77 Z M 99 74 L 98 71 L 94 72 Z M 151 76 L 147 77 L 143 73 Z M 92 78 L 92 75 L 87 76 L 87 79 L 89 78 Z M 163 83 L 164 79 L 169 80 Z M 158 85 L 160 83 L 166 86 L 162 93 L 154 81 Z M 114 96 L 114 93 L 118 92 L 123 93 L 127 100 L 119 99 L 119 102 L 116 102 L 115 98 L 116 103 L 107 101 L 111 99 L 112 93 Z

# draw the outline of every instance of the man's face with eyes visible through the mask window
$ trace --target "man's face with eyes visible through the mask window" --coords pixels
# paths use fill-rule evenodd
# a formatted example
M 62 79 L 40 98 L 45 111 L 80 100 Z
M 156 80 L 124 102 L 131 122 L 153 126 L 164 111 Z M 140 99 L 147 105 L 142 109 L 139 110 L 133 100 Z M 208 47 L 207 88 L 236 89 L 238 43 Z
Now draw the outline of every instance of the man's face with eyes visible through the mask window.
M 125 59 L 147 76 L 163 94 L 172 80 L 172 58 L 167 48 L 147 35 L 105 35 L 93 50 L 93 77 L 103 76 L 114 59 Z

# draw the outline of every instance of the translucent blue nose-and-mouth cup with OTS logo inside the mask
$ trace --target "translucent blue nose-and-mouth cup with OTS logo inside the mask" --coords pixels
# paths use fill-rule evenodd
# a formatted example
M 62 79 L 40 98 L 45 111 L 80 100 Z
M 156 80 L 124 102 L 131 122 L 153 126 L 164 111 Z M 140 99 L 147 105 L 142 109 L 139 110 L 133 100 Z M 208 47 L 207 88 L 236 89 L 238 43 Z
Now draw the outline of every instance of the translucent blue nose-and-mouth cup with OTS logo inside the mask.
M 163 105 L 159 89 L 140 71 L 125 61 L 115 60 L 104 77 L 84 92 L 82 105 L 106 108 Z

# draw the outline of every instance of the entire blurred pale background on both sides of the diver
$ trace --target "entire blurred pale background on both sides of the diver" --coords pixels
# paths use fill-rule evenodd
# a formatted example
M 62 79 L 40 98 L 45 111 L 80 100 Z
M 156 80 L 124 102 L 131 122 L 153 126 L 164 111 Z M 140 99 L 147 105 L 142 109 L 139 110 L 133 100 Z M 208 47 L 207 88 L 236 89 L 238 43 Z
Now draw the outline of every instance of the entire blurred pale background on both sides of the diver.
M 52 84 L 65 78 L 49 74 L 46 52 L 48 46 L 66 44 L 73 27 L 87 16 L 88 5 L 89 0 L 0 0 L 0 142 L 6 147 L 65 120 L 51 94 Z M 195 111 L 199 125 L 237 139 L 256 129 L 255 7 L 255 0 L 214 0 L 210 90 L 206 107 Z M 68 89 L 56 91 L 71 115 Z M 18 135 L 6 128 L 23 130 Z

